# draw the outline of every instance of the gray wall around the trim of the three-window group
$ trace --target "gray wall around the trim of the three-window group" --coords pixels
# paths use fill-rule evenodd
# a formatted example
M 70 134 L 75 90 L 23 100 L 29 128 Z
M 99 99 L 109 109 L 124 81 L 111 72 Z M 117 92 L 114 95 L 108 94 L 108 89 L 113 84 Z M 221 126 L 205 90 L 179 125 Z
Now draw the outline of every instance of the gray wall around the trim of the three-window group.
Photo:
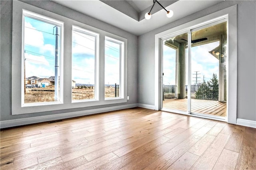
M 53 115 L 60 113 L 69 113 L 75 111 L 84 111 L 90 109 L 99 109 L 104 107 L 112 107 L 118 105 L 127 105 L 132 103 L 138 103 L 137 96 L 137 85 L 138 85 L 138 41 L 137 36 L 134 36 L 128 32 L 120 30 L 114 26 L 86 16 L 84 14 L 78 13 L 74 10 L 61 6 L 51 1 L 23 1 L 28 4 L 34 5 L 36 7 L 54 12 L 56 14 L 65 16 L 67 18 L 82 22 L 84 24 L 93 26 L 95 28 L 116 34 L 118 36 L 124 37 L 128 40 L 128 52 L 127 52 L 127 95 L 130 97 L 130 100 L 127 103 L 120 103 L 115 105 L 103 105 L 95 107 L 84 107 L 77 109 L 66 109 L 42 113 L 30 113 L 23 115 L 12 115 L 11 106 L 12 106 L 12 1 L 2 1 L 1 0 L 1 18 L 0 18 L 0 121 L 11 120 L 11 119 L 20 119 L 27 117 L 36 117 L 42 115 Z

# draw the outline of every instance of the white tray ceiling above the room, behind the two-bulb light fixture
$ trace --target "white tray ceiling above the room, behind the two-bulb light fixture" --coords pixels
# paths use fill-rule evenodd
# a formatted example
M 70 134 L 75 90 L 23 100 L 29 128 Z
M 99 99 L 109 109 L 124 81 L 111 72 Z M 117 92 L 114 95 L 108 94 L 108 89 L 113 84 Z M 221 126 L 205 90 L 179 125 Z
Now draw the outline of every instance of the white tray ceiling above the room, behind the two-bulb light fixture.
M 172 10 L 174 15 L 172 18 L 167 18 L 166 11 L 156 3 L 150 20 L 146 20 L 144 15 L 150 11 L 153 0 L 52 1 L 139 36 L 223 0 L 158 0 L 166 10 Z

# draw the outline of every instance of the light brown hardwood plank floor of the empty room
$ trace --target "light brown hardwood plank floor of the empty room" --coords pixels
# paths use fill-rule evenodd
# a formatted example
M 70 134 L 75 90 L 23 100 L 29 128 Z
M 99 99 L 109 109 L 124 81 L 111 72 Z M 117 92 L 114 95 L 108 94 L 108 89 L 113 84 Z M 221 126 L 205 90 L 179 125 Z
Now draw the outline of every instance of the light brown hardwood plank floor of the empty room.
M 1 129 L 1 170 L 256 169 L 256 129 L 134 108 Z

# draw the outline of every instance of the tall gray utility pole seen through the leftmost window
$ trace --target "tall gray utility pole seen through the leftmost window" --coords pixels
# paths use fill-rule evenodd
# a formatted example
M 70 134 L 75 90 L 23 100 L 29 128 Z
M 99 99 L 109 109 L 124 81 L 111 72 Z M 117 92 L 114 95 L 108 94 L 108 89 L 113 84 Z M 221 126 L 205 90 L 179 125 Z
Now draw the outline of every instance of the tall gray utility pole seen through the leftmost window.
M 59 44 L 59 32 L 58 32 L 58 27 L 55 26 L 56 28 L 56 37 L 55 37 L 55 78 L 54 78 L 54 100 L 58 101 L 59 100 L 59 64 L 58 64 L 58 44 Z

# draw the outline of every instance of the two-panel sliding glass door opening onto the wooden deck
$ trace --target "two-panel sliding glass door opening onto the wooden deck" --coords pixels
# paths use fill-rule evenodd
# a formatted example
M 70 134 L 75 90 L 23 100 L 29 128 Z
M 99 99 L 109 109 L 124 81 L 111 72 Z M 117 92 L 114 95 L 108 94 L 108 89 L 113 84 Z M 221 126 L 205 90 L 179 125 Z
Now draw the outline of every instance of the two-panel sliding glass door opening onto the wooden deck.
M 162 40 L 162 108 L 225 119 L 227 21 Z

